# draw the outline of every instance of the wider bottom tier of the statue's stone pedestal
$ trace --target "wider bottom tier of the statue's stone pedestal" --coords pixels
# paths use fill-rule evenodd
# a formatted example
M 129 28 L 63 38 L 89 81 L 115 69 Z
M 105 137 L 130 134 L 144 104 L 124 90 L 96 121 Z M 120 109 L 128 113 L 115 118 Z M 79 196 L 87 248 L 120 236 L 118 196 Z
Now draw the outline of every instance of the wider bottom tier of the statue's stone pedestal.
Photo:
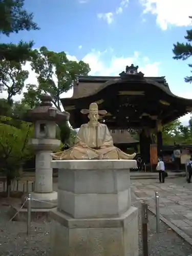
M 52 256 L 138 256 L 138 209 L 121 217 L 74 219 L 50 211 Z

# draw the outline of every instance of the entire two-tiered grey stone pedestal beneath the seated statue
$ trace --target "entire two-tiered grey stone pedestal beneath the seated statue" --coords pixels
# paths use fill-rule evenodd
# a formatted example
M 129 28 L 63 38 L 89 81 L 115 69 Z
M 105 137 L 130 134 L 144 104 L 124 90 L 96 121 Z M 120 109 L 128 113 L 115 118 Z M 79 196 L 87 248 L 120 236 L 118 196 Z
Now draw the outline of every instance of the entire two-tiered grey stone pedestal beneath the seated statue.
M 138 210 L 131 206 L 135 160 L 52 161 L 58 208 L 52 210 L 52 255 L 138 256 Z

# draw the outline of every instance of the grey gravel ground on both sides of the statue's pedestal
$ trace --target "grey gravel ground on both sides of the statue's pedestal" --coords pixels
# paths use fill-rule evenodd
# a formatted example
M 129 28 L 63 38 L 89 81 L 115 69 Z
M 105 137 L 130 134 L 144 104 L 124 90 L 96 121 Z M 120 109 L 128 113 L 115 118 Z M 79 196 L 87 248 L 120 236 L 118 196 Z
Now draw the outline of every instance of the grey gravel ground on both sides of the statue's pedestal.
M 50 223 L 32 222 L 32 232 L 26 235 L 26 223 L 9 222 L 8 206 L 0 206 L 0 255 L 1 256 L 50 256 Z M 155 216 L 149 213 L 149 256 L 188 256 L 192 248 L 175 232 L 161 223 L 161 232 L 156 234 Z M 139 218 L 139 256 L 142 256 L 141 223 Z

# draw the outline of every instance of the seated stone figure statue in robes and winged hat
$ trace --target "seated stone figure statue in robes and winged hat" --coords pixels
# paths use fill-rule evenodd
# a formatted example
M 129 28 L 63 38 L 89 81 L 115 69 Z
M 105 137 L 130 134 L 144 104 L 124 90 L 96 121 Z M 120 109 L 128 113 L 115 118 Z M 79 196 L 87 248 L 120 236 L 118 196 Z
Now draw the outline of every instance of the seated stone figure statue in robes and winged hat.
M 89 110 L 81 110 L 89 114 L 90 121 L 80 126 L 73 147 L 68 150 L 51 154 L 53 160 L 81 159 L 133 159 L 136 154 L 128 155 L 113 145 L 113 139 L 105 124 L 99 123 L 99 115 L 105 115 L 105 110 L 98 111 L 98 105 L 91 103 Z

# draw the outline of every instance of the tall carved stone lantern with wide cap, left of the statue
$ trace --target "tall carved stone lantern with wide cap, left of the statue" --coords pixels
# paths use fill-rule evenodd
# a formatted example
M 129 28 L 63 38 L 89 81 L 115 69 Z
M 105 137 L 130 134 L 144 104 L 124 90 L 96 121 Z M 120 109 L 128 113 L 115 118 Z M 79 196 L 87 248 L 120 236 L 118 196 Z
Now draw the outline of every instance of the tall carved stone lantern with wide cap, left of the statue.
M 48 94 L 42 95 L 40 99 L 40 106 L 29 111 L 27 117 L 28 121 L 34 123 L 34 137 L 29 143 L 36 152 L 32 208 L 53 208 L 57 205 L 57 192 L 53 191 L 51 153 L 60 145 L 60 140 L 56 139 L 56 126 L 67 122 L 70 115 L 54 108 Z

